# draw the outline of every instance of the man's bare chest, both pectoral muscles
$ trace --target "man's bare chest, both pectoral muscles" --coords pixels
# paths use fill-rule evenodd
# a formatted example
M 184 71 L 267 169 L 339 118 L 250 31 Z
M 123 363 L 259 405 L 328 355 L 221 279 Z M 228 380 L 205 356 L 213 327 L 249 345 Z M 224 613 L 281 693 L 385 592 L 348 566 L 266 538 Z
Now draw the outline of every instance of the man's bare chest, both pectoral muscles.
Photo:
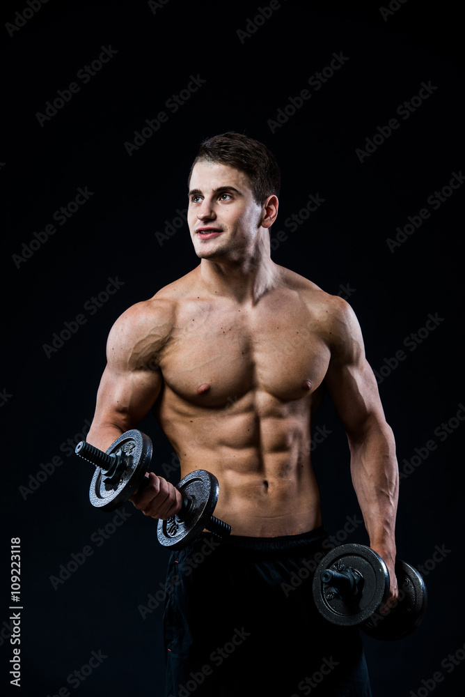
M 251 390 L 299 399 L 326 374 L 329 348 L 320 323 L 306 312 L 280 307 L 186 319 L 166 346 L 161 372 L 173 392 L 194 404 L 228 406 Z

